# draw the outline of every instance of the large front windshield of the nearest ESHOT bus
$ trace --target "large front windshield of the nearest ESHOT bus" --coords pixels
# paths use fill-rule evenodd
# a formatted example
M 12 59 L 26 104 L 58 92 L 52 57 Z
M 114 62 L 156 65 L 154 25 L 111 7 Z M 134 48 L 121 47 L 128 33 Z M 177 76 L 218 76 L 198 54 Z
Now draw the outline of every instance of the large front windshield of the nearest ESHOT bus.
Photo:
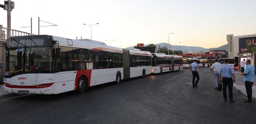
M 45 45 L 44 37 L 7 39 L 5 77 L 23 73 L 50 73 L 51 47 Z

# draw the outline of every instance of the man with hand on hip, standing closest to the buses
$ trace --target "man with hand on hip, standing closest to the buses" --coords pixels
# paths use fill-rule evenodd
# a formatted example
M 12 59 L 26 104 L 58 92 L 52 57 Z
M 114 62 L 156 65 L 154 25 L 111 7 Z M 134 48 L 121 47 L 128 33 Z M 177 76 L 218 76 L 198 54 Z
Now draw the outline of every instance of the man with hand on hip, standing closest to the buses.
M 198 68 L 197 68 L 196 62 L 197 60 L 195 59 L 194 62 L 189 65 L 189 69 L 192 71 L 192 75 L 193 75 L 193 80 L 192 80 L 193 87 L 198 87 L 197 83 L 199 81 L 199 74 L 198 74 Z M 195 82 L 195 77 L 197 77 L 196 82 Z

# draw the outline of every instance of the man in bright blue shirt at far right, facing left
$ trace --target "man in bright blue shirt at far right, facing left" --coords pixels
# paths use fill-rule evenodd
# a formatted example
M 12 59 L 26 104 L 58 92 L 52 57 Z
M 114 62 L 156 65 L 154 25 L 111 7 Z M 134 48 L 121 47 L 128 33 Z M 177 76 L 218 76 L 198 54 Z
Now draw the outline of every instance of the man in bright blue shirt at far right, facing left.
M 251 60 L 246 60 L 246 68 L 244 70 L 244 73 L 241 73 L 243 75 L 243 81 L 245 83 L 246 93 L 248 99 L 246 99 L 244 102 L 252 102 L 252 85 L 254 82 L 254 67 L 251 65 Z

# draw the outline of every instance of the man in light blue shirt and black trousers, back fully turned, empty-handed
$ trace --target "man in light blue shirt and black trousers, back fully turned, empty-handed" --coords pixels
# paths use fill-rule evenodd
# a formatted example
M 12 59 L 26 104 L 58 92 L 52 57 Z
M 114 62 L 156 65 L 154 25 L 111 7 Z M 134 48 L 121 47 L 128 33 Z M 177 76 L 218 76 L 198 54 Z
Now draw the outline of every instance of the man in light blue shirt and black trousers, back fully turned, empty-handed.
M 219 72 L 219 80 L 223 84 L 223 97 L 224 101 L 227 101 L 227 86 L 228 86 L 228 92 L 229 92 L 229 101 L 234 102 L 233 100 L 233 82 L 236 82 L 236 77 L 235 77 L 235 71 L 234 69 L 228 65 L 228 59 L 224 60 L 224 65 L 220 67 L 220 72 Z M 221 80 L 222 77 L 222 80 Z M 232 79 L 234 78 L 234 80 Z

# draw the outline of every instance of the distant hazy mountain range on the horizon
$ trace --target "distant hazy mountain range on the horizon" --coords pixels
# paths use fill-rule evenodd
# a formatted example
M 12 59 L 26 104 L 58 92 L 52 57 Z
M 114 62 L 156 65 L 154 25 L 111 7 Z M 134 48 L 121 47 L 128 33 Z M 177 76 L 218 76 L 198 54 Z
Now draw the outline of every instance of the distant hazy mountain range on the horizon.
M 156 45 L 156 47 L 158 46 L 161 46 L 161 47 L 164 47 L 165 45 L 168 47 L 168 43 L 158 43 L 158 44 L 154 44 Z M 144 47 L 148 46 L 148 44 L 144 45 Z M 169 44 L 169 46 L 172 46 L 170 47 L 171 50 L 179 50 L 179 45 L 171 45 Z M 127 47 L 127 48 L 133 48 L 132 47 Z M 228 44 L 226 45 L 223 45 L 223 46 L 220 46 L 218 48 L 210 48 L 210 49 L 206 49 L 206 48 L 203 48 L 203 47 L 192 47 L 192 46 L 180 46 L 180 50 L 183 51 L 183 52 L 197 52 L 199 50 L 228 50 Z

